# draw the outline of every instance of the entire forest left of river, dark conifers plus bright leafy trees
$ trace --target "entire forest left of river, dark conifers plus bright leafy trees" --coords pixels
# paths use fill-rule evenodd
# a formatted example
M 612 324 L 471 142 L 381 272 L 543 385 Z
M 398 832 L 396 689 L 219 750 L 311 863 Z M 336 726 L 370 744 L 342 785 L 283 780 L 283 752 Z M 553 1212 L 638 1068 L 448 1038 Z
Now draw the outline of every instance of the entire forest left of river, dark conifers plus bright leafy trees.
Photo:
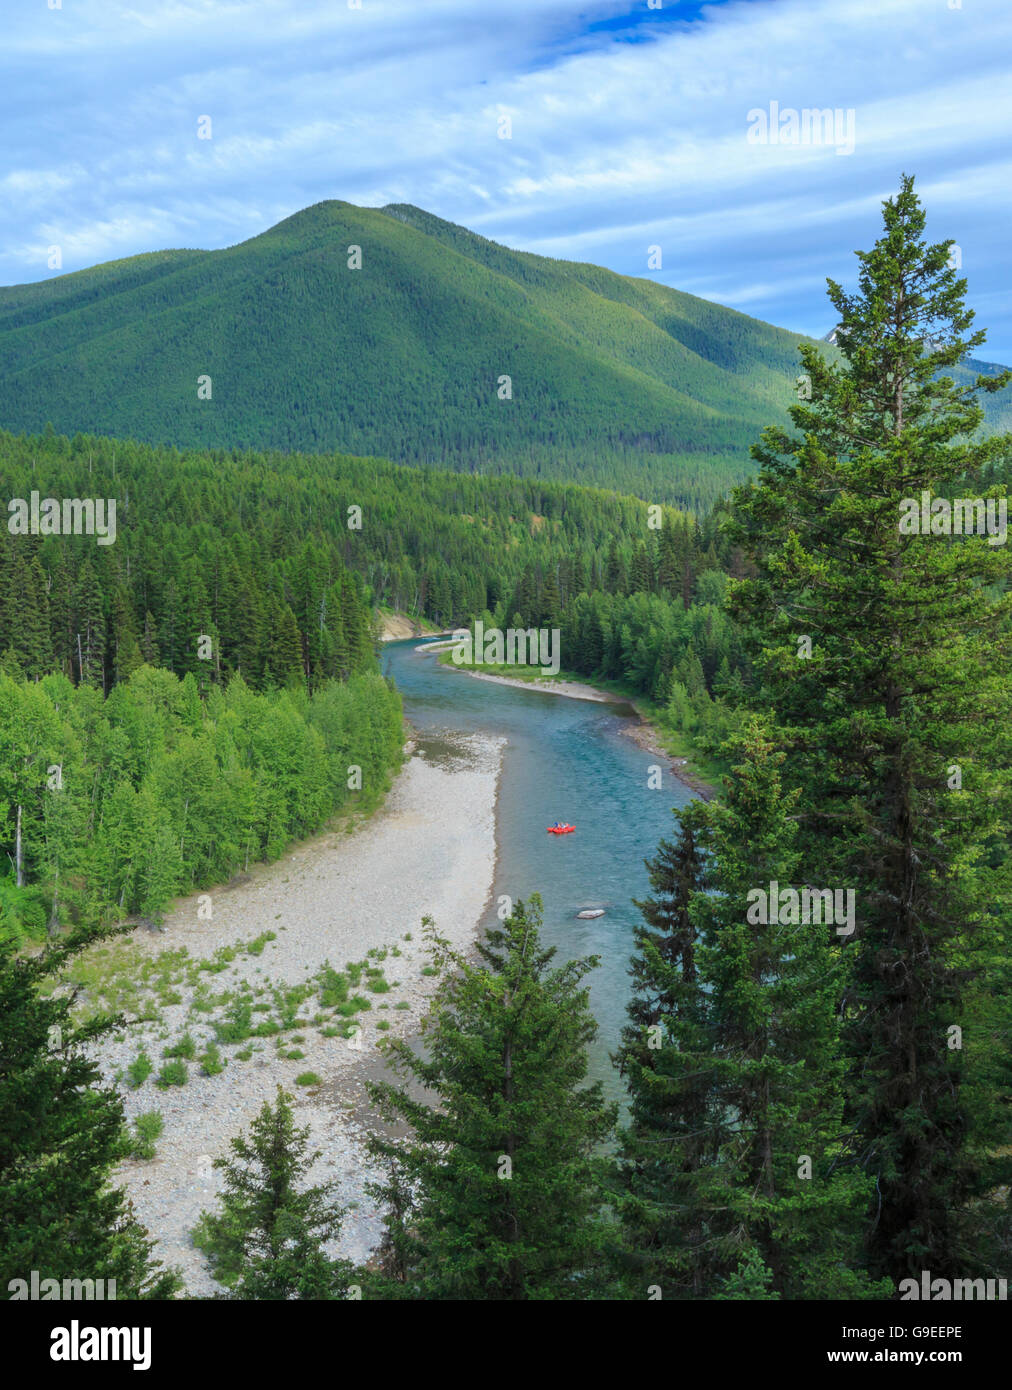
M 156 915 L 368 801 L 399 748 L 374 605 L 452 624 L 541 575 L 567 599 L 621 588 L 646 532 L 634 499 L 377 460 L 51 431 L 0 436 L 0 459 L 11 498 L 117 500 L 110 545 L 0 535 L 0 891 L 18 934 Z

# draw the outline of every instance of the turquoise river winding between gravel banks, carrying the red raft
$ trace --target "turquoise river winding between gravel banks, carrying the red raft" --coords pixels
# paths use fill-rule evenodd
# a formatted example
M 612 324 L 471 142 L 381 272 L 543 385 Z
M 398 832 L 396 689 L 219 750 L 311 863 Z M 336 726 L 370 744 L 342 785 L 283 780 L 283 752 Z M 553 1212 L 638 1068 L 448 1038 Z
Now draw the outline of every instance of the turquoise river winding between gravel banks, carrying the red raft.
M 620 733 L 635 719 L 628 705 L 566 699 L 538 691 L 475 681 L 420 655 L 418 639 L 388 642 L 384 671 L 405 699 L 405 714 L 424 738 L 441 733 L 499 734 L 507 739 L 496 817 L 498 863 L 493 902 L 482 926 L 495 922 L 502 894 L 545 905 L 542 940 L 559 956 L 601 956 L 589 977 L 599 1033 L 591 1049 L 591 1074 L 607 1094 L 621 1087 L 609 1054 L 619 1042 L 630 994 L 628 960 L 632 898 L 649 883 L 644 859 L 662 837 L 676 831 L 671 809 L 691 792 L 667 770 L 667 760 L 638 748 Z M 662 766 L 662 785 L 648 787 L 648 769 Z M 576 826 L 571 835 L 549 835 L 556 820 Z M 605 916 L 580 922 L 584 908 Z

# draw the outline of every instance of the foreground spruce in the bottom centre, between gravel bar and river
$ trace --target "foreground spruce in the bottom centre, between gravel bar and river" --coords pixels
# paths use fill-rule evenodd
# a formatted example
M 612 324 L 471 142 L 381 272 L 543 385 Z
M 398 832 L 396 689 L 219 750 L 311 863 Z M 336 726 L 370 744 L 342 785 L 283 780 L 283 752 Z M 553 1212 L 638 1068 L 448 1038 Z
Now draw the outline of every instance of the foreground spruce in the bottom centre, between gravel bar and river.
M 435 935 L 442 979 L 423 1055 L 388 1044 L 395 1070 L 434 1099 L 368 1083 L 403 1143 L 377 1136 L 392 1165 L 378 1188 L 391 1208 L 382 1297 L 571 1300 L 601 1287 L 603 1188 L 595 1150 L 614 1108 L 584 1086 L 596 1031 L 584 979 L 595 958 L 552 967 L 538 938 L 541 899 L 517 902 L 478 944 L 475 963 Z M 410 1193 L 410 1204 L 406 1204 Z

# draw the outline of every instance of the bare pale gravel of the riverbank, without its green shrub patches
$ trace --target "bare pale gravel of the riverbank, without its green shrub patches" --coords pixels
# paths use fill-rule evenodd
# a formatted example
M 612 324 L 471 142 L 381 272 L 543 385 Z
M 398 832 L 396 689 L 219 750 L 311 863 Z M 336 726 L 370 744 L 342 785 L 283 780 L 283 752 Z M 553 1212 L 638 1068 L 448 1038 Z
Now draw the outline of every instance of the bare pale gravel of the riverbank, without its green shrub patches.
M 227 1152 L 228 1140 L 249 1126 L 264 1099 L 274 1098 L 278 1083 L 296 1095 L 297 1120 L 311 1126 L 313 1145 L 321 1150 L 311 1180 L 336 1180 L 338 1200 L 354 1204 L 335 1248 L 364 1259 L 377 1244 L 381 1219 L 364 1193 L 375 1173 L 359 1119 L 364 1109 L 361 1077 L 375 1073 L 377 1042 L 384 1036 L 417 1033 L 435 987 L 432 977 L 421 974 L 428 963 L 421 917 L 431 915 L 441 934 L 459 948 L 474 940 L 495 870 L 502 748 L 502 739 L 459 734 L 423 742 L 382 809 L 354 833 L 317 835 L 277 863 L 259 866 L 243 881 L 213 890 L 210 922 L 197 919 L 195 894 L 165 917 L 163 933 L 138 929 L 126 938 L 142 959 L 186 947 L 192 960 L 207 960 L 220 948 L 274 931 L 275 940 L 261 947 L 261 954 L 239 951 L 225 970 L 202 976 L 218 994 L 235 990 L 242 980 L 256 988 L 297 986 L 327 962 L 342 970 L 370 949 L 398 948 L 382 960 L 389 992 L 373 997 L 371 1009 L 354 1016 L 363 1030 L 361 1051 L 345 1037 L 323 1034 L 318 994 L 313 994 L 299 1008 L 297 1030 L 284 1034 L 284 1051 L 297 1044 L 299 1059 L 285 1058 L 267 1036 L 252 1040 L 256 1051 L 246 1061 L 235 1056 L 240 1047 L 222 1044 L 229 1061 L 217 1076 L 204 1076 L 192 1061 L 185 1086 L 157 1088 L 152 1076 L 136 1090 L 122 1087 L 128 1119 L 160 1111 L 164 1133 L 156 1158 L 126 1161 L 118 1182 L 157 1238 L 158 1258 L 182 1269 L 190 1294 L 206 1297 L 215 1287 L 189 1238 L 200 1212 L 215 1205 L 221 1175 L 211 1161 Z M 409 933 L 411 940 L 406 941 Z M 103 1044 L 100 1062 L 107 1077 L 129 1065 L 142 1044 L 157 1069 L 163 1048 L 183 1031 L 196 1040 L 199 1054 L 214 1037 L 213 1022 L 192 1011 L 193 987 L 177 988 L 179 1002 L 163 1008 L 157 1022 L 132 1024 L 126 1034 Z M 356 992 L 364 994 L 366 987 Z M 381 1031 L 378 1023 L 388 1027 Z M 323 1084 L 296 1084 L 304 1072 L 316 1072 Z

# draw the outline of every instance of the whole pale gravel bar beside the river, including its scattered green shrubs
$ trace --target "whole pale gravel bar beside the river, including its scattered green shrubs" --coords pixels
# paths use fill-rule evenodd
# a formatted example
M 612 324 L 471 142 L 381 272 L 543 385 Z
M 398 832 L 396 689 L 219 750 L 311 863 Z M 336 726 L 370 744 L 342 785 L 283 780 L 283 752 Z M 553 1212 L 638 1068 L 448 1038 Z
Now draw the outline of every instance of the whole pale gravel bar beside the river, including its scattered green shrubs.
M 417 1034 L 435 988 L 423 973 L 423 916 L 459 948 L 474 940 L 495 870 L 502 748 L 480 735 L 420 741 L 357 828 L 182 899 L 161 931 L 138 929 L 83 962 L 85 999 L 125 1001 L 142 1020 L 106 1040 L 99 1061 L 121 1084 L 128 1119 L 157 1111 L 164 1131 L 156 1156 L 128 1159 L 117 1180 L 192 1295 L 215 1287 L 190 1241 L 220 1190 L 213 1159 L 278 1084 L 321 1150 L 310 1180 L 335 1180 L 353 1208 L 335 1248 L 364 1259 L 377 1244 L 361 1081 L 380 1065 L 381 1038 Z M 207 1074 L 211 1048 L 224 1066 L 214 1072 L 213 1061 Z M 142 1051 L 152 1070 L 133 1086 Z

